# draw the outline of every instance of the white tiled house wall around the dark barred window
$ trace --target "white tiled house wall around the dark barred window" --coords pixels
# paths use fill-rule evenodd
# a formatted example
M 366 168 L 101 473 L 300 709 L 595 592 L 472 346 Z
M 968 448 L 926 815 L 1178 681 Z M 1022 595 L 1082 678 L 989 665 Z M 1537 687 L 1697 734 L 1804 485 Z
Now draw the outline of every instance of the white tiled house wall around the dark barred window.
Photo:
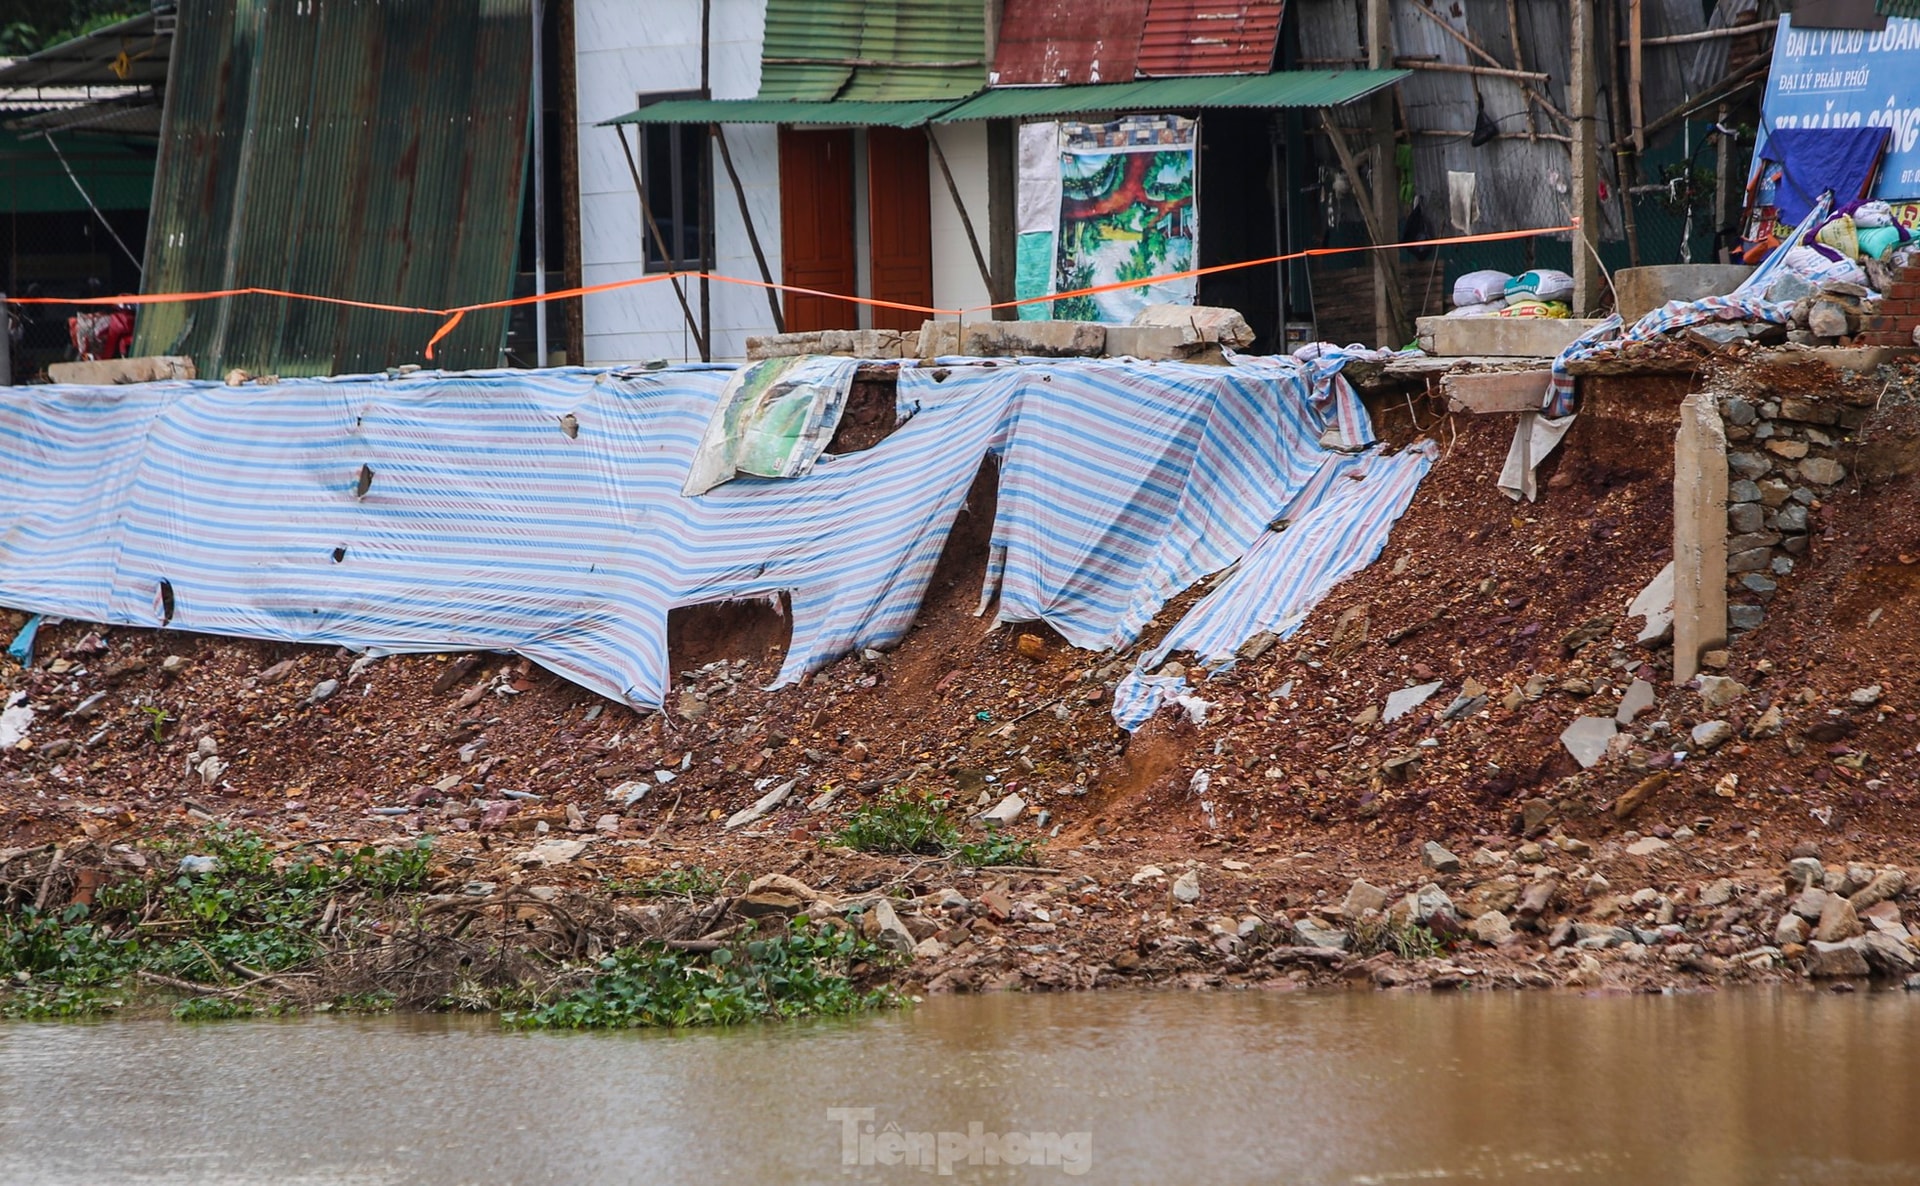
M 753 98 L 760 90 L 760 36 L 766 0 L 712 0 L 712 94 Z M 639 202 L 614 129 L 603 119 L 636 107 L 641 90 L 693 90 L 701 84 L 701 0 L 576 0 L 574 61 L 580 111 L 580 274 L 586 284 L 645 273 Z M 628 129 L 636 155 L 639 144 Z M 747 209 L 780 276 L 780 140 L 772 125 L 728 125 L 728 148 L 747 192 Z M 714 157 L 714 271 L 758 278 L 739 202 Z M 766 296 L 741 284 L 712 286 L 714 361 L 747 355 L 747 336 L 772 330 Z M 699 315 L 699 286 L 687 286 Z M 672 286 L 664 280 L 589 296 L 584 303 L 586 363 L 699 359 Z

